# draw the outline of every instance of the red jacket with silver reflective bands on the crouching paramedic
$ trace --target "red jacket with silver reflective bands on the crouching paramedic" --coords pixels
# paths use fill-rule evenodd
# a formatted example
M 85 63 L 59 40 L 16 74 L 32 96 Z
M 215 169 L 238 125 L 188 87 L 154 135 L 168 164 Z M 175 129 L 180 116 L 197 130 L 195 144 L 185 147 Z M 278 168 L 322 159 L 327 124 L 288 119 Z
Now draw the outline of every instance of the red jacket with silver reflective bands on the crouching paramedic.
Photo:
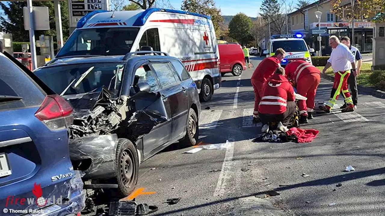
M 277 73 L 263 83 L 262 91 L 259 113 L 282 114 L 286 111 L 287 101 L 295 101 L 293 86 L 285 76 Z

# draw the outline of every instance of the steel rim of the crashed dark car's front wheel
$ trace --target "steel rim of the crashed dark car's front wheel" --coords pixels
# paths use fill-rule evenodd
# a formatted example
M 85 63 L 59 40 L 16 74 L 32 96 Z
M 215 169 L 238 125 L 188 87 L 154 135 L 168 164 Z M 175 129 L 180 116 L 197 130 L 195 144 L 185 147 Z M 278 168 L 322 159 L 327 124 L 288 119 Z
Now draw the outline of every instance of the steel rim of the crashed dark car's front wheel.
M 122 152 L 121 158 L 120 158 L 120 174 L 121 179 L 127 188 L 129 188 L 130 184 L 132 183 L 132 180 L 134 178 L 134 163 L 132 161 L 132 153 L 129 149 L 126 149 Z

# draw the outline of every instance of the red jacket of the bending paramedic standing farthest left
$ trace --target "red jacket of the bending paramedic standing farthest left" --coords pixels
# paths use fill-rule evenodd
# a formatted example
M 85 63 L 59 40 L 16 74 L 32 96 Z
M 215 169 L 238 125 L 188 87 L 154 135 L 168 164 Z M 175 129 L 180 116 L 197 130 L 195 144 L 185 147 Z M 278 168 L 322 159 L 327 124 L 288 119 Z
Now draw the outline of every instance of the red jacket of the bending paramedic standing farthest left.
M 251 79 L 264 83 L 269 77 L 273 76 L 275 70 L 277 70 L 280 66 L 280 60 L 277 57 L 271 56 L 265 58 L 261 61 L 261 63 L 259 63 L 257 68 L 255 68 Z

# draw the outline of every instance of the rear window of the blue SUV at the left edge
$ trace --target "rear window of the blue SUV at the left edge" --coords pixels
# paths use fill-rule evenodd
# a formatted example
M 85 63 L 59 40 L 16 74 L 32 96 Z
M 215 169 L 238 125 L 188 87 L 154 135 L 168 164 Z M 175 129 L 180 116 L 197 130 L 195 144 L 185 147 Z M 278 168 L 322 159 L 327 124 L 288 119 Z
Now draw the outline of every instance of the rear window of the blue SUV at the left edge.
M 5 109 L 39 106 L 45 92 L 24 71 L 4 55 L 0 55 L 0 111 Z M 5 95 L 5 96 L 4 96 Z M 6 100 L 5 97 L 20 97 Z

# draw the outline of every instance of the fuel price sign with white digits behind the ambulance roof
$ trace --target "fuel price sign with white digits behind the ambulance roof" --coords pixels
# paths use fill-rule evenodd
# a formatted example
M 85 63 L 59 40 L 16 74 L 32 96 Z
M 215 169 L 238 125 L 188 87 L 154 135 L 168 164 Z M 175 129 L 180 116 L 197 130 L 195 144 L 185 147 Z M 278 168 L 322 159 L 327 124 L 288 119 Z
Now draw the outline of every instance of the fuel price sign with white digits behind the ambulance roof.
M 110 10 L 110 0 L 68 0 L 70 11 L 70 27 L 76 27 L 77 22 L 87 13 L 95 10 Z

